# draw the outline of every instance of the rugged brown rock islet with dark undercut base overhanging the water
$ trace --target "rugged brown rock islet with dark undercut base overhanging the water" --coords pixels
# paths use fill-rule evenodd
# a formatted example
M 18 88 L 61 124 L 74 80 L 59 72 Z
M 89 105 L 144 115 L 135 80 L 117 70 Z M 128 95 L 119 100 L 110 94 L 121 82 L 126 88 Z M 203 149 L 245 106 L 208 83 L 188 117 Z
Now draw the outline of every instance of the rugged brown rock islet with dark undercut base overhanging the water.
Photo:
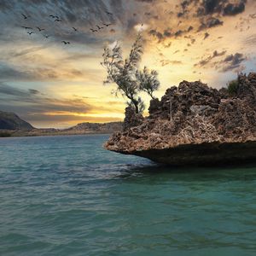
M 236 96 L 183 81 L 152 100 L 149 116 L 125 110 L 124 130 L 104 147 L 156 162 L 215 165 L 256 161 L 256 73 L 238 77 Z

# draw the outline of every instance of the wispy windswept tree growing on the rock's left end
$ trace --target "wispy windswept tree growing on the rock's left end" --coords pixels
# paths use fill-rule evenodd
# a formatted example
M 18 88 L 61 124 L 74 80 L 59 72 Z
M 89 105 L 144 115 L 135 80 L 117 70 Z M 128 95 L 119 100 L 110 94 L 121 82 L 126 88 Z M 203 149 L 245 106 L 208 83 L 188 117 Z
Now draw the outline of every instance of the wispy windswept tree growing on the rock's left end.
M 143 38 L 141 33 L 137 35 L 136 41 L 131 47 L 130 55 L 125 61 L 120 44 L 115 44 L 113 49 L 106 47 L 102 55 L 102 66 L 107 69 L 108 73 L 104 84 L 117 84 L 115 94 L 121 93 L 122 96 L 126 97 L 128 99 L 127 104 L 135 108 L 136 113 L 142 113 L 145 108 L 139 92 L 143 90 L 154 97 L 153 91 L 159 87 L 155 71 L 150 73 L 146 67 L 144 67 L 143 72 L 138 71 L 142 55 Z

